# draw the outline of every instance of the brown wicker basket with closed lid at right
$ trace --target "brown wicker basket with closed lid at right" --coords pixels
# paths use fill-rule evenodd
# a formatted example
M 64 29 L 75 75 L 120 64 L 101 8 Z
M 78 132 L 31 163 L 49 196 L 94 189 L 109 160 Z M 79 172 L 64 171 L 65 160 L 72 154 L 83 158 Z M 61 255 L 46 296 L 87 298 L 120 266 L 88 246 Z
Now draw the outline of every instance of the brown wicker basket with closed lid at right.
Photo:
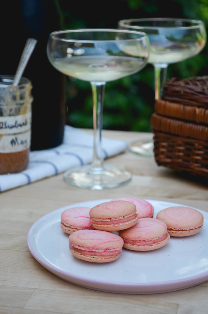
M 158 165 L 208 177 L 208 77 L 163 84 L 151 128 Z

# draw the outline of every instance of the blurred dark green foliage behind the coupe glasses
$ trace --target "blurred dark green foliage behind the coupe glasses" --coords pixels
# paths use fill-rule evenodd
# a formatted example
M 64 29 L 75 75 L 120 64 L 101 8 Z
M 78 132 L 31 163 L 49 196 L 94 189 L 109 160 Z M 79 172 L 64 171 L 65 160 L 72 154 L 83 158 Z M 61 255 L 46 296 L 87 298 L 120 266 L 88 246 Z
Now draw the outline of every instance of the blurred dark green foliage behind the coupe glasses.
M 172 17 L 200 19 L 208 27 L 208 0 L 59 0 L 65 29 L 117 28 L 128 18 Z M 200 54 L 168 66 L 167 78 L 208 75 L 208 45 Z M 89 82 L 67 80 L 67 123 L 92 128 L 92 96 Z M 103 128 L 150 132 L 154 111 L 154 69 L 108 82 L 105 89 Z

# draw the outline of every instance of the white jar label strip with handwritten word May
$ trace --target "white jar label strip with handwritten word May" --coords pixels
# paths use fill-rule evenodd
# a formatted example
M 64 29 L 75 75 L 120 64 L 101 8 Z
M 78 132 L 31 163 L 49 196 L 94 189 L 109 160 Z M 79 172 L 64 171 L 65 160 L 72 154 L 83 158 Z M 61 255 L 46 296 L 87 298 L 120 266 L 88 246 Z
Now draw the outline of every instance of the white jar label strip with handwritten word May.
M 30 147 L 31 131 L 0 136 L 0 153 L 14 153 Z

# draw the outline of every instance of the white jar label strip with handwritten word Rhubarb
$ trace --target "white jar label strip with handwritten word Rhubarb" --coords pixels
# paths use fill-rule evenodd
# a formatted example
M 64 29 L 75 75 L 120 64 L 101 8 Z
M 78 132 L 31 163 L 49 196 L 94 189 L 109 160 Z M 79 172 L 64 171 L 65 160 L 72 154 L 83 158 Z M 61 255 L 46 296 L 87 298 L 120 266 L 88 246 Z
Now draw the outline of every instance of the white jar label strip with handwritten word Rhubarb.
M 31 111 L 19 116 L 1 116 L 0 134 L 17 134 L 30 130 Z

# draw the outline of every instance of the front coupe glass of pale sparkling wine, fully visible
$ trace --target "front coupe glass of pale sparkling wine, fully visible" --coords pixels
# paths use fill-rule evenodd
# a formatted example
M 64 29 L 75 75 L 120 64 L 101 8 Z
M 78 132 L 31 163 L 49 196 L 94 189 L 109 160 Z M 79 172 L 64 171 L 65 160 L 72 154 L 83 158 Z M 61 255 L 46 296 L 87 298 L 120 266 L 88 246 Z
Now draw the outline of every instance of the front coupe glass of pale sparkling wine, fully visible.
M 88 81 L 92 88 L 94 150 L 91 165 L 71 168 L 67 183 L 101 190 L 120 186 L 131 174 L 118 166 L 104 165 L 101 146 L 105 84 L 140 71 L 149 57 L 148 36 L 134 30 L 61 30 L 49 35 L 47 56 L 54 68 L 72 78 Z

